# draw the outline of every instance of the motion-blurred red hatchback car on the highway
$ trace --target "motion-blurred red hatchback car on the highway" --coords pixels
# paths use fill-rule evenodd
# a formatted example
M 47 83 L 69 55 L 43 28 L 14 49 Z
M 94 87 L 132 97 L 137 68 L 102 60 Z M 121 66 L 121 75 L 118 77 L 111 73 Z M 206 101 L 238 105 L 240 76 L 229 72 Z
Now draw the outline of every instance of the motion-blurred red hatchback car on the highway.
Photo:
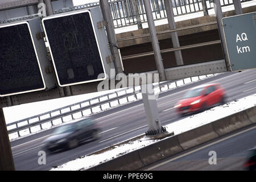
M 174 106 L 180 115 L 204 111 L 205 109 L 224 104 L 225 90 L 220 84 L 201 85 L 190 89 L 183 99 Z

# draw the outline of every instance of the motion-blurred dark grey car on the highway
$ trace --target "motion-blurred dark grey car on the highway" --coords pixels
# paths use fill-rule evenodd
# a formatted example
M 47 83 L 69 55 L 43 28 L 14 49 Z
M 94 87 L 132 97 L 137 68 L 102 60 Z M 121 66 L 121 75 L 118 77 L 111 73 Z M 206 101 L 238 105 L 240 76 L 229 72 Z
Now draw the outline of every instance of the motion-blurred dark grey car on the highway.
M 69 150 L 88 139 L 97 139 L 100 127 L 92 118 L 80 118 L 56 127 L 50 137 L 44 140 L 44 148 L 49 151 Z

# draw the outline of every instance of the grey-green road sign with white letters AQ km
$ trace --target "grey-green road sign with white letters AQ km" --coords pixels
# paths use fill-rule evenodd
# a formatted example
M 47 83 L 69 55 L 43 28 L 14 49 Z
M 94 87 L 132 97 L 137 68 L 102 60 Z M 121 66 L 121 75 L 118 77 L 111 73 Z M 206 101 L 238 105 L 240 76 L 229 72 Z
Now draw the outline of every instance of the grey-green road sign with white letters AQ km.
M 231 71 L 256 68 L 256 12 L 222 18 Z

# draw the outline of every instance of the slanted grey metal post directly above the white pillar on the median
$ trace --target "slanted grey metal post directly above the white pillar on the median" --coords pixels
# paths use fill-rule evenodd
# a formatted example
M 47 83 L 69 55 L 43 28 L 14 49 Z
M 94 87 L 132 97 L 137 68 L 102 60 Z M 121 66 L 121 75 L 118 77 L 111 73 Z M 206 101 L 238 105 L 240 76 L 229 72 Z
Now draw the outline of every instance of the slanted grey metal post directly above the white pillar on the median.
M 150 1 L 143 0 L 143 2 L 146 10 L 147 23 L 148 23 L 148 28 L 150 30 L 151 42 L 152 42 L 152 47 L 155 55 L 156 68 L 158 69 L 160 81 L 166 81 L 166 73 L 164 72 L 163 59 L 160 52 L 158 36 L 156 34 L 155 23 L 152 15 Z

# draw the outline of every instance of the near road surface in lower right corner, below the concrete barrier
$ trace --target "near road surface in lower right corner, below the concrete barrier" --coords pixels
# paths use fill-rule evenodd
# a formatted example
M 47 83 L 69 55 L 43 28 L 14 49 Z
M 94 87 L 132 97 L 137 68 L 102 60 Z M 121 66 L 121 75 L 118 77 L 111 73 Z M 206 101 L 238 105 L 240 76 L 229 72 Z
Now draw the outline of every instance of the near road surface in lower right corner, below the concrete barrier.
M 140 170 L 242 171 L 250 148 L 256 146 L 256 125 L 220 137 Z M 215 152 L 215 153 L 213 153 Z M 214 162 L 213 155 L 216 156 Z

